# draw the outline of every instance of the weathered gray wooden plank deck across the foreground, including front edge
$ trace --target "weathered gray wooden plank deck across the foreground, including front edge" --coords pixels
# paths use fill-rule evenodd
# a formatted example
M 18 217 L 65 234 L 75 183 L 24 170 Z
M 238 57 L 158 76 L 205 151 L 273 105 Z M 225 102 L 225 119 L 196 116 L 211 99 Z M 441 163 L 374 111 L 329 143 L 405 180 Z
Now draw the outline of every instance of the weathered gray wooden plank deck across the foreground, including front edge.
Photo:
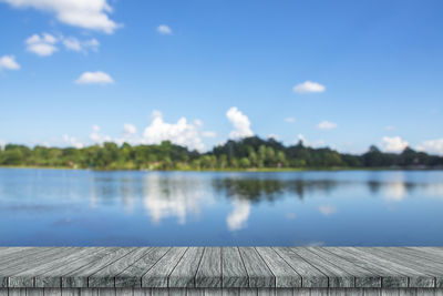
M 0 296 L 80 295 L 80 288 L 89 288 L 82 295 L 364 288 L 367 295 L 443 296 L 443 247 L 0 247 Z

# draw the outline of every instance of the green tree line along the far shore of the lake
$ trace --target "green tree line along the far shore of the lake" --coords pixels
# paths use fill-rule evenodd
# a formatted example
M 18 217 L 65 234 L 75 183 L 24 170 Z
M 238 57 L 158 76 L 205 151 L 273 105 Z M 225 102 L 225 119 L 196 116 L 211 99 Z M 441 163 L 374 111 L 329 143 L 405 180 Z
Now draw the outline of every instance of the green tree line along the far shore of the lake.
M 406 147 L 383 153 L 377 146 L 356 155 L 329 147 L 313 149 L 300 141 L 285 146 L 258 136 L 227 141 L 200 153 L 169 141 L 153 145 L 117 145 L 106 142 L 83 149 L 7 144 L 0 149 L 0 165 L 72 167 L 94 170 L 285 170 L 403 167 L 443 169 L 443 157 Z

